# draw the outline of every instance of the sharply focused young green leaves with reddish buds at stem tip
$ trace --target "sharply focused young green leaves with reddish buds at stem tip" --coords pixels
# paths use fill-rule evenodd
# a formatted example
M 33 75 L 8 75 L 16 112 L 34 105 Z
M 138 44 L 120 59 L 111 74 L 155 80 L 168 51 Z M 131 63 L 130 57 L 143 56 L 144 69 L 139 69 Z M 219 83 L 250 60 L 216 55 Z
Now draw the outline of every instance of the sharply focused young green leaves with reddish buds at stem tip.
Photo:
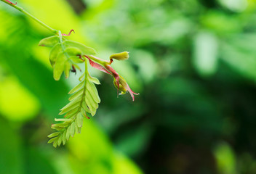
M 96 110 L 99 107 L 98 104 L 100 103 L 100 97 L 97 93 L 95 84 L 100 84 L 100 82 L 97 78 L 92 78 L 89 75 L 86 59 L 89 59 L 89 64 L 92 65 L 92 67 L 113 75 L 114 85 L 121 91 L 121 94 L 125 94 L 129 91 L 134 100 L 133 94 L 135 93 L 129 88 L 127 82 L 109 66 L 113 62 L 113 59 L 128 59 L 129 54 L 127 51 L 111 55 L 111 62 L 106 62 L 97 57 L 93 57 L 93 55 L 96 54 L 95 49 L 75 41 L 66 40 L 63 38 L 60 31 L 59 36 L 51 36 L 42 39 L 39 42 L 39 46 L 52 47 L 49 54 L 49 62 L 53 67 L 53 77 L 55 80 L 60 80 L 63 72 L 65 78 L 68 78 L 70 71 L 76 72 L 76 68 L 81 70 L 78 64 L 85 62 L 85 72 L 79 78 L 81 83 L 69 92 L 69 94 L 72 94 L 68 99 L 70 103 L 60 109 L 60 115 L 65 114 L 65 119 L 55 119 L 55 121 L 62 123 L 52 125 L 52 129 L 55 129 L 58 132 L 48 136 L 51 138 L 48 141 L 49 144 L 52 143 L 55 147 L 60 146 L 60 144 L 65 145 L 65 142 L 68 141 L 70 136 L 73 137 L 75 133 L 81 133 L 84 117 L 89 118 L 87 113 L 92 116 L 96 114 Z M 95 62 L 93 62 L 92 59 Z

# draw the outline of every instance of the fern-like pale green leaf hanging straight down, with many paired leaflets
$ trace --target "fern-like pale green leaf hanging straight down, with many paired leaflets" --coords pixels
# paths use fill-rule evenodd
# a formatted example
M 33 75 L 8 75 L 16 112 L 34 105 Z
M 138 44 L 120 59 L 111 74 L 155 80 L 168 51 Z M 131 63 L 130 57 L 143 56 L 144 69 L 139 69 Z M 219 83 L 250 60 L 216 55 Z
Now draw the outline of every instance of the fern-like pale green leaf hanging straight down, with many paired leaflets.
M 62 123 L 52 125 L 52 128 L 57 132 L 48 136 L 51 138 L 48 143 L 52 143 L 55 147 L 60 146 L 60 144 L 64 145 L 75 133 L 81 133 L 84 117 L 89 118 L 88 114 L 94 116 L 100 103 L 100 97 L 95 87 L 95 84 L 99 84 L 99 80 L 92 78 L 86 72 L 80 79 L 81 83 L 69 92 L 72 94 L 69 98 L 70 102 L 60 109 L 60 115 L 65 114 L 65 118 L 55 119 L 55 121 Z

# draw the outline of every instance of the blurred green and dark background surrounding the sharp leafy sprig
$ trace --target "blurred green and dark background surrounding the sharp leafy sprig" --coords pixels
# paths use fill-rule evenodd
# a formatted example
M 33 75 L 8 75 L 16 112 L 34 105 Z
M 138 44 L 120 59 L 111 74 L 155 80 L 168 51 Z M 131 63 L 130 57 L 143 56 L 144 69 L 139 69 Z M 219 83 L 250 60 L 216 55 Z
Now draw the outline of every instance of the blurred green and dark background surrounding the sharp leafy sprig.
M 0 3 L 0 173 L 255 174 L 255 0 L 17 0 L 108 59 L 140 93 L 102 99 L 66 146 L 47 144 L 77 76 L 52 78 L 45 28 Z

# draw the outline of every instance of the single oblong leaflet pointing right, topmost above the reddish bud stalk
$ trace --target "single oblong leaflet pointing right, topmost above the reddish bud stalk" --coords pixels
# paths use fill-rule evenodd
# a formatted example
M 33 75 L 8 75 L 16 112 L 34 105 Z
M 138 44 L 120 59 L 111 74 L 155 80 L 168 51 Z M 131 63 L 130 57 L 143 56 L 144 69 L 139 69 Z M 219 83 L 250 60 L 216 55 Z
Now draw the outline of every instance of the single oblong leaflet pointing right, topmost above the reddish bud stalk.
M 65 47 L 75 47 L 76 49 L 80 49 L 82 54 L 84 55 L 95 55 L 97 54 L 95 49 L 92 49 L 88 46 L 85 46 L 84 44 L 81 44 L 76 41 L 64 41 Z

